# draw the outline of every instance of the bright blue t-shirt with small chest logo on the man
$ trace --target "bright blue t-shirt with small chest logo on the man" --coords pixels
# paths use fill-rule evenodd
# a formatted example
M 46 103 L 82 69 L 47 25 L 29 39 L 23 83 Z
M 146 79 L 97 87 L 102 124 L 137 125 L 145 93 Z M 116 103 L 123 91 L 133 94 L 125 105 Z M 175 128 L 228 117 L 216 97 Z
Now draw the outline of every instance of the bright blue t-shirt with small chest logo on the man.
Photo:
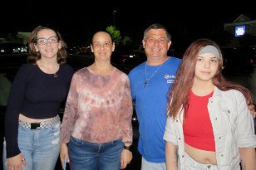
M 139 121 L 138 149 L 142 157 L 151 163 L 165 163 L 163 136 L 167 119 L 167 95 L 175 80 L 180 61 L 179 58 L 170 57 L 162 66 L 149 66 L 143 62 L 129 74 L 131 96 L 135 100 Z M 146 79 L 150 79 L 147 85 Z

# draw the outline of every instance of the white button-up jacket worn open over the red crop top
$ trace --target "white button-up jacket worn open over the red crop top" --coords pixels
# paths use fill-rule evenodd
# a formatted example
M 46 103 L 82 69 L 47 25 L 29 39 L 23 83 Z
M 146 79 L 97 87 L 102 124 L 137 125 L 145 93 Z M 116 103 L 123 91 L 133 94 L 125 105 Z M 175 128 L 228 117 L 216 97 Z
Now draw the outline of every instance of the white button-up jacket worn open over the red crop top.
M 240 170 L 239 148 L 256 148 L 254 119 L 244 95 L 238 90 L 222 91 L 214 87 L 207 107 L 219 170 Z M 168 116 L 164 134 L 165 141 L 178 145 L 180 170 L 185 170 L 183 114 L 184 109 L 180 109 L 176 119 Z

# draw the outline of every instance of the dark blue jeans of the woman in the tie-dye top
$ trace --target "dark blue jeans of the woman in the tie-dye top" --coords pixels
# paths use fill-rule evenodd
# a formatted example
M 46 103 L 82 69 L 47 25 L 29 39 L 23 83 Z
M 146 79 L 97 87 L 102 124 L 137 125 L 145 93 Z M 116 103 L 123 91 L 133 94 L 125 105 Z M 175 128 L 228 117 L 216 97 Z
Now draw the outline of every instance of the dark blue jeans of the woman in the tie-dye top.
M 71 170 L 121 169 L 121 139 L 109 143 L 88 143 L 71 136 L 68 154 Z

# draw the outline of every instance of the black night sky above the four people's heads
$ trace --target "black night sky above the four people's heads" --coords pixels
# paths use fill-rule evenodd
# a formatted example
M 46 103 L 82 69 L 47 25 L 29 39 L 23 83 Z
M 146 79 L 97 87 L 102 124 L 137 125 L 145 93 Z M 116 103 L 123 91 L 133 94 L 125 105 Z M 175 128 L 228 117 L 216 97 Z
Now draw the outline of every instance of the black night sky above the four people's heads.
M 79 44 L 90 40 L 96 30 L 105 30 L 114 25 L 115 21 L 116 29 L 121 31 L 122 36 L 141 41 L 145 28 L 159 22 L 169 29 L 173 45 L 179 46 L 183 41 L 209 37 L 212 32 L 224 30 L 224 23 L 233 22 L 240 14 L 256 20 L 256 10 L 249 10 L 249 7 L 253 7 L 249 3 L 223 7 L 220 3 L 209 1 L 204 1 L 200 6 L 194 2 L 180 2 L 183 4 L 177 5 L 170 1 L 168 5 L 165 1 L 147 1 L 143 7 L 136 5 L 138 2 L 71 0 L 65 3 L 41 0 L 18 2 L 15 5 L 7 2 L 9 4 L 1 10 L 4 17 L 0 35 L 32 32 L 34 27 L 48 24 L 62 33 L 67 44 Z

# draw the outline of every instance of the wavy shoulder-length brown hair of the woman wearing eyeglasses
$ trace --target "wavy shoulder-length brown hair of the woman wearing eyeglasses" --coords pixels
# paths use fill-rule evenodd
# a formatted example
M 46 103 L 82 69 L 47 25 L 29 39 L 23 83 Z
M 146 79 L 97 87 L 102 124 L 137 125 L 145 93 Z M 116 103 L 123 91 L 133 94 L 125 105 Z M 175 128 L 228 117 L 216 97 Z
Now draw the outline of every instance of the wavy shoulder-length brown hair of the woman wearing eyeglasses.
M 41 54 L 40 52 L 37 52 L 35 49 L 35 44 L 37 43 L 37 33 L 40 32 L 41 30 L 49 29 L 52 30 L 53 32 L 56 33 L 58 41 L 61 42 L 62 48 L 58 50 L 57 52 L 57 62 L 59 64 L 66 63 L 66 57 L 67 57 L 67 52 L 66 52 L 66 42 L 63 41 L 62 35 L 60 32 L 57 32 L 54 28 L 51 27 L 46 27 L 46 26 L 38 26 L 36 27 L 33 31 L 31 36 L 29 37 L 28 40 L 28 56 L 27 56 L 27 62 L 29 63 L 36 63 L 39 59 L 41 59 Z

